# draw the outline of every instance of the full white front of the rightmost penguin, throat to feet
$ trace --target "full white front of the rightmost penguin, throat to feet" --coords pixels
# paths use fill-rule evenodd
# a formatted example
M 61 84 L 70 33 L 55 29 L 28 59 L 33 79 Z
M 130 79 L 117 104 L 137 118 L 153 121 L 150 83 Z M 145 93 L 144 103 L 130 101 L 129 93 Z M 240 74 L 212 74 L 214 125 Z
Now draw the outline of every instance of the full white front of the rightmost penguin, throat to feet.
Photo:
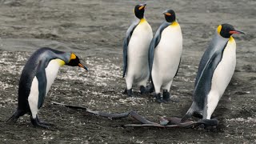
M 207 96 L 207 102 L 203 114 L 203 118 L 210 119 L 211 114 L 213 114 L 218 101 L 222 98 L 222 94 L 229 85 L 230 80 L 234 74 L 234 69 L 236 65 L 236 44 L 234 39 L 230 40 L 226 49 L 222 55 L 222 61 L 218 63 L 218 66 L 214 70 L 211 89 Z

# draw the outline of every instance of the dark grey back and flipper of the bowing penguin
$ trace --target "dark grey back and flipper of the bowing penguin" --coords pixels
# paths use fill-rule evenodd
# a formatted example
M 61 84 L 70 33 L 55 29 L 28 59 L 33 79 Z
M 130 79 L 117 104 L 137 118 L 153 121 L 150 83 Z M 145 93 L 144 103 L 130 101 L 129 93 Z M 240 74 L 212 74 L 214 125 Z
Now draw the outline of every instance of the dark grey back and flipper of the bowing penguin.
M 30 94 L 30 87 L 33 78 L 36 76 L 38 78 L 39 95 L 45 95 L 46 90 L 40 90 L 40 88 L 46 88 L 46 67 L 50 60 L 59 58 L 64 62 L 68 63 L 70 60 L 70 53 L 65 53 L 58 50 L 53 50 L 47 47 L 38 49 L 31 55 L 31 57 L 26 62 L 21 74 L 18 87 L 18 109 L 29 110 L 27 103 L 27 98 Z M 45 85 L 45 86 L 40 86 Z M 39 96 L 40 97 L 40 96 Z M 41 98 L 43 98 L 41 97 Z

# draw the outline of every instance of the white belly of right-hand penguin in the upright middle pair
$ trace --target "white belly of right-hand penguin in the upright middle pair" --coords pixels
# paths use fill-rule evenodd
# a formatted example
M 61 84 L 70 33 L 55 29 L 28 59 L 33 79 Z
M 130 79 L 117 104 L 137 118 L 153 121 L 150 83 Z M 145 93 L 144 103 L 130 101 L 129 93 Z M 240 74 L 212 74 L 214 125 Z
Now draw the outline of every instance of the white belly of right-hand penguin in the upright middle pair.
M 154 85 L 170 85 L 182 56 L 182 31 L 180 26 L 168 26 L 154 50 L 152 78 Z M 169 88 L 170 89 L 170 88 Z

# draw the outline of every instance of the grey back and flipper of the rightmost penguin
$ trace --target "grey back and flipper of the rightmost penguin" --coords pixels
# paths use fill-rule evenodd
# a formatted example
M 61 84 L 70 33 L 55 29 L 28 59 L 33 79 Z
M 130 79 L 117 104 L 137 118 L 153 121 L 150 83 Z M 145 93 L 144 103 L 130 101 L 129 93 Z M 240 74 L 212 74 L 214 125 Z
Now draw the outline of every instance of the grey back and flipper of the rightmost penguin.
M 221 37 L 217 32 L 203 54 L 198 66 L 198 74 L 194 85 L 194 102 L 199 110 L 204 107 L 206 95 L 210 92 L 211 79 L 218 63 L 222 61 L 222 54 L 229 38 Z

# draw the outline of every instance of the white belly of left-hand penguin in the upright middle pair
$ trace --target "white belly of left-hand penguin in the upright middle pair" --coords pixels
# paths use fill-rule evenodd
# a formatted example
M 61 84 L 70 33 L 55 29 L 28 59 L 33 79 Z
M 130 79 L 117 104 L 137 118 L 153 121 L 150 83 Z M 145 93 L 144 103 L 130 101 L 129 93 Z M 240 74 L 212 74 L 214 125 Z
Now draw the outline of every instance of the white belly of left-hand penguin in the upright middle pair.
M 128 66 L 126 78 L 135 83 L 149 78 L 148 51 L 153 33 L 147 22 L 140 22 L 134 29 L 128 45 Z

